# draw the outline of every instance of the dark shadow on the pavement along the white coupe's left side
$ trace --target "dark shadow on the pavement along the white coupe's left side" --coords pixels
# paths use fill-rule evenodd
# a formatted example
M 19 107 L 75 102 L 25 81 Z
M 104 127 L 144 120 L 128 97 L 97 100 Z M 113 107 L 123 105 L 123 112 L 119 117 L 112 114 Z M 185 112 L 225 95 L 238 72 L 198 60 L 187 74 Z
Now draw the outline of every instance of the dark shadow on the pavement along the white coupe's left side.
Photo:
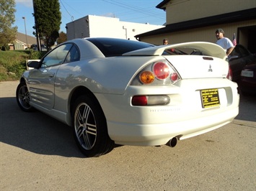
M 16 98 L 0 98 L 0 141 L 37 154 L 84 158 L 71 127 L 50 116 L 24 112 Z

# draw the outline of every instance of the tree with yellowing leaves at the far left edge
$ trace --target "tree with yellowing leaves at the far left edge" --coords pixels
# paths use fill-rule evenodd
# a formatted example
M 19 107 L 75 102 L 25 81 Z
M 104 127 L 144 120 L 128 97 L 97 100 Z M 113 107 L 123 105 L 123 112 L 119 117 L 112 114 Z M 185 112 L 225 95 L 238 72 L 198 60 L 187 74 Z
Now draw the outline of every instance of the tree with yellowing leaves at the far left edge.
M 14 42 L 17 34 L 17 27 L 12 27 L 15 22 L 15 1 L 0 0 L 0 46 L 6 47 Z

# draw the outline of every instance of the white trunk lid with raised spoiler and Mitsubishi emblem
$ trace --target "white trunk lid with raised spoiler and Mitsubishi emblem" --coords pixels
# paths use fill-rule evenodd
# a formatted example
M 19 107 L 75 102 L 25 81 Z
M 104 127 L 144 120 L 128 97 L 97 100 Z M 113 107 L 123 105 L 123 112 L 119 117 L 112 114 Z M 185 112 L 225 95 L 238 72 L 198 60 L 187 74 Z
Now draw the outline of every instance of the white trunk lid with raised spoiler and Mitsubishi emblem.
M 178 50 L 185 54 L 166 52 Z M 187 78 L 226 78 L 229 63 L 226 52 L 211 42 L 185 42 L 175 45 L 161 45 L 144 48 L 123 54 L 125 56 L 163 56 L 177 70 L 182 79 Z

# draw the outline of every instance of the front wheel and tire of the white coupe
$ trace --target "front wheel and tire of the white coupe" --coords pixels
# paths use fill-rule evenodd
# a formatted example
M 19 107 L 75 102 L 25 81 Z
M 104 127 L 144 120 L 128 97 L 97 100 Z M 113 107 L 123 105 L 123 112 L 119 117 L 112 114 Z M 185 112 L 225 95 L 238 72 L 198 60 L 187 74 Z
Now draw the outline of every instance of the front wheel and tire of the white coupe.
M 19 83 L 16 90 L 16 100 L 19 108 L 21 108 L 22 111 L 34 111 L 34 108 L 30 106 L 30 93 L 25 82 Z

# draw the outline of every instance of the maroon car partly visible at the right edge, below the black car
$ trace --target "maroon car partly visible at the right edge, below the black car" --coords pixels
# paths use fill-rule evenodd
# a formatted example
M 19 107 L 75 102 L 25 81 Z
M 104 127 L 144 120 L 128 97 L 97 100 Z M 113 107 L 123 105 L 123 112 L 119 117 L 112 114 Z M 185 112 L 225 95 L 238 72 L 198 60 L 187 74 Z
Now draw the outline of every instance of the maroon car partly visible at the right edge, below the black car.
M 256 95 L 256 62 L 242 69 L 239 88 L 243 95 Z

